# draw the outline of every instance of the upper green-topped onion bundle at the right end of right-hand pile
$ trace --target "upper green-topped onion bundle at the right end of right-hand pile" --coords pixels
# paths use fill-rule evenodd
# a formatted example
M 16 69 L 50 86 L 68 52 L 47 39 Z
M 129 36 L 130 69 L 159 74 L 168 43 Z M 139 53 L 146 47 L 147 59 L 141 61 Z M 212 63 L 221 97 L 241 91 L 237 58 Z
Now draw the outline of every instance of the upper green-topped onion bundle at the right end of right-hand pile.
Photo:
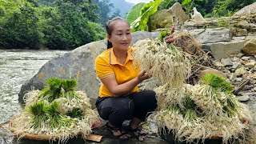
M 192 90 L 192 99 L 202 107 L 207 115 L 229 118 L 250 115 L 242 113 L 246 108 L 232 94 L 233 86 L 221 76 L 206 74 L 198 82 L 198 85 L 190 90 Z

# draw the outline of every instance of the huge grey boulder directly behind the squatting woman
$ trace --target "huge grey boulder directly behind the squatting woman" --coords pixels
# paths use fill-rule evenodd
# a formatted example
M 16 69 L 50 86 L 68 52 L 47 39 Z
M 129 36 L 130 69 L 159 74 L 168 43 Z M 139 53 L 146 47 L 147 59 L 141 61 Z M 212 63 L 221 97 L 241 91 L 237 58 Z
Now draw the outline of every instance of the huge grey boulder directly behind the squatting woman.
M 145 38 L 158 38 L 158 32 L 135 32 L 131 45 Z M 84 90 L 94 106 L 101 83 L 95 73 L 94 60 L 104 50 L 106 50 L 106 40 L 90 42 L 70 51 L 70 53 L 46 62 L 38 74 L 22 85 L 18 94 L 18 101 L 24 102 L 23 96 L 28 90 L 42 90 L 46 85 L 47 78 L 75 78 L 78 81 L 78 90 Z

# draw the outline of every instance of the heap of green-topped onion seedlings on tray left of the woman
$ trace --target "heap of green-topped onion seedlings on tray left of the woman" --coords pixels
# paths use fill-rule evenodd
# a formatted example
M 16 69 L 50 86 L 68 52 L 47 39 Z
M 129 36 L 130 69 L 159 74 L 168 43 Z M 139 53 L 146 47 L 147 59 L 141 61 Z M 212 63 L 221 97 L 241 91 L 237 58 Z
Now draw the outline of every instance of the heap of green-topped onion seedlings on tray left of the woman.
M 18 138 L 36 140 L 68 139 L 91 134 L 97 114 L 91 109 L 90 99 L 76 91 L 74 79 L 49 78 L 47 86 L 25 94 L 25 109 L 10 122 L 10 130 Z

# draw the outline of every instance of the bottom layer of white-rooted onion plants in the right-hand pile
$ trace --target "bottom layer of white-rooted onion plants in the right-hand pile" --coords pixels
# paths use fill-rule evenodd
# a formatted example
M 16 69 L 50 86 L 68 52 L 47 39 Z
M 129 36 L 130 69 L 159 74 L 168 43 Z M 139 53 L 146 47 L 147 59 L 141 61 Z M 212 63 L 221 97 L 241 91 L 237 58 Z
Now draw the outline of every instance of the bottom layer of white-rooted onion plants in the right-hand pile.
M 162 106 L 160 110 L 154 111 L 147 118 L 147 122 L 154 122 L 160 131 L 167 128 L 179 141 L 193 142 L 195 139 L 222 138 L 222 142 L 227 143 L 231 138 L 244 138 L 245 130 L 248 128 L 244 122 L 246 118 L 250 118 L 249 110 L 245 105 L 237 102 L 239 108 L 235 114 L 232 113 L 232 117 L 224 113 L 213 116 L 209 111 L 206 113 L 204 107 L 198 106 L 198 99 L 195 100 L 189 94 L 191 93 L 182 98 L 182 103 Z

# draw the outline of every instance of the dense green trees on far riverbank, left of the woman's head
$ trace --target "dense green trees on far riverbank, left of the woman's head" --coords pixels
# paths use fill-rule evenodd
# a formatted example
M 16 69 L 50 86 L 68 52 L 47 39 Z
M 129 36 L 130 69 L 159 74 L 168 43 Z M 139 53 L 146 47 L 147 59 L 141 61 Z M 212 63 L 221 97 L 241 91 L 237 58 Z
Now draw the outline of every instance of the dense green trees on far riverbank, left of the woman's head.
M 0 0 L 0 47 L 72 50 L 103 39 L 101 14 L 110 13 L 106 2 Z

